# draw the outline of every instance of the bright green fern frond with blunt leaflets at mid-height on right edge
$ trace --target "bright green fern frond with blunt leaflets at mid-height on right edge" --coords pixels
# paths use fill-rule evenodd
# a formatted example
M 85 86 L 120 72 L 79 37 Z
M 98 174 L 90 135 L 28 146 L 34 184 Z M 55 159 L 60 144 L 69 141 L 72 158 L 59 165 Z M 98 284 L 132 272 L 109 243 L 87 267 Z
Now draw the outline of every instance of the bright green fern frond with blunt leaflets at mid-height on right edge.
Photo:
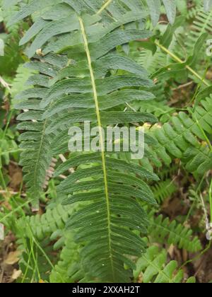
M 179 112 L 170 118 L 170 123 L 152 127 L 149 133 L 158 145 L 152 150 L 147 146 L 146 155 L 152 151 L 153 165 L 160 168 L 163 163 L 170 165 L 173 158 L 180 158 L 191 173 L 204 174 L 210 170 L 212 152 L 205 134 L 212 134 L 211 107 L 211 97 L 203 99 L 192 114 Z

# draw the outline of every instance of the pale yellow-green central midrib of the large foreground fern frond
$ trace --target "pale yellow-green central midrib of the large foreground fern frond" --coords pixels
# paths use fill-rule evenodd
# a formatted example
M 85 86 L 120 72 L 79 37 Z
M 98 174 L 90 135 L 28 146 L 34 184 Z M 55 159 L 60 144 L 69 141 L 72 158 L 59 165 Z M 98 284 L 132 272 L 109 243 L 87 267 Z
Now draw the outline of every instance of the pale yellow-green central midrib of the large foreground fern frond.
M 99 127 L 99 133 L 100 133 L 100 146 L 101 146 L 101 156 L 102 156 L 102 169 L 103 169 L 103 175 L 104 175 L 104 184 L 105 184 L 105 198 L 106 198 L 106 204 L 107 204 L 107 228 L 108 228 L 108 245 L 109 245 L 109 250 L 110 250 L 110 262 L 111 262 L 111 267 L 112 271 L 114 274 L 114 269 L 113 269 L 113 260 L 112 260 L 112 240 L 111 240 L 111 231 L 110 231 L 110 201 L 109 201 L 109 193 L 108 193 L 108 183 L 107 183 L 107 168 L 106 168 L 106 160 L 105 160 L 105 142 L 103 141 L 103 135 L 102 135 L 102 123 L 101 123 L 101 117 L 100 117 L 100 107 L 98 103 L 98 93 L 97 93 L 97 88 L 95 86 L 95 76 L 93 72 L 93 67 L 92 67 L 92 62 L 91 62 L 91 57 L 90 57 L 90 50 L 88 47 L 88 39 L 86 36 L 86 30 L 83 24 L 83 19 L 81 17 L 78 17 L 79 23 L 81 25 L 81 32 L 83 35 L 83 40 L 84 40 L 84 46 L 86 50 L 86 55 L 88 59 L 88 68 L 90 71 L 90 79 L 92 83 L 92 88 L 93 88 L 93 98 L 95 100 L 95 112 L 97 115 L 98 119 L 98 127 Z

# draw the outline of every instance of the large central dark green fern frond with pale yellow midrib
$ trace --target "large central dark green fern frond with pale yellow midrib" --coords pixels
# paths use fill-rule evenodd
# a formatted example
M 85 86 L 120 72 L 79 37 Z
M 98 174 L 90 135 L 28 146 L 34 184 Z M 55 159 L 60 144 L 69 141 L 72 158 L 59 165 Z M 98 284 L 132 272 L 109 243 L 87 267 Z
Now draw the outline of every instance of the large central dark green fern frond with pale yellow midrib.
M 57 71 L 49 90 L 34 88 L 19 95 L 19 98 L 23 95 L 27 98 L 42 98 L 39 107 L 35 108 L 38 112 L 25 112 L 20 115 L 19 120 L 37 120 L 38 123 L 50 121 L 49 125 L 45 124 L 46 133 L 42 134 L 45 141 L 48 141 L 51 134 L 58 135 L 61 130 L 67 132 L 73 124 L 83 121 L 90 121 L 104 128 L 109 124 L 156 121 L 156 118 L 147 112 L 122 112 L 122 109 L 111 111 L 113 107 L 130 100 L 151 97 L 151 93 L 143 93 L 144 89 L 148 90 L 153 86 L 146 72 L 131 59 L 120 56 L 115 51 L 119 45 L 150 36 L 146 30 L 120 28 L 141 20 L 143 14 L 128 11 L 117 21 L 102 26 L 100 16 L 78 14 L 82 3 L 83 1 L 66 1 L 70 6 L 61 8 L 65 17 L 58 20 L 57 16 L 57 19 L 49 21 L 49 24 L 37 33 L 29 50 L 30 57 L 37 49 L 41 49 L 42 54 L 54 50 L 57 53 L 66 52 L 71 58 L 71 64 L 69 62 L 64 69 Z M 33 2 L 24 6 L 15 20 L 29 16 L 35 11 L 36 5 Z M 31 34 L 31 37 L 34 36 Z M 45 57 L 48 57 L 48 54 Z M 39 68 L 42 71 L 41 64 Z M 126 72 L 112 75 L 110 69 L 122 69 Z M 50 71 L 45 69 L 47 70 Z M 127 90 L 131 91 L 131 87 L 136 87 L 134 97 L 127 93 Z M 75 95 L 76 93 L 78 94 Z M 43 109 L 45 114 L 42 115 Z M 33 124 L 37 127 L 37 123 L 32 122 L 27 125 L 20 124 L 19 127 L 31 128 Z M 22 137 L 24 139 L 25 136 Z M 31 145 L 26 144 L 30 148 Z M 57 148 L 60 144 L 53 141 L 52 145 Z M 66 145 L 68 148 L 68 144 Z M 75 173 L 59 185 L 59 191 L 67 195 L 64 204 L 90 202 L 74 214 L 67 224 L 69 228 L 78 229 L 76 241 L 86 243 L 81 252 L 82 266 L 86 273 L 90 274 L 91 279 L 97 278 L 100 281 L 129 281 L 131 271 L 124 269 L 124 264 L 132 269 L 134 262 L 127 255 L 139 256 L 145 248 L 143 240 L 134 232 L 144 231 L 147 223 L 147 216 L 136 199 L 155 204 L 153 193 L 143 179 L 157 180 L 158 177 L 139 165 L 107 156 L 103 150 L 101 129 L 100 146 L 100 153 L 81 154 L 57 168 L 56 175 L 69 168 L 76 168 Z M 47 153 L 45 144 L 43 147 L 43 151 Z M 23 165 L 29 162 L 28 155 L 23 154 Z M 45 158 L 47 156 L 45 155 Z M 88 165 L 90 168 L 85 170 L 80 165 Z M 46 165 L 43 167 L 46 168 Z M 29 166 L 26 169 L 28 168 Z M 40 185 L 40 177 L 43 175 L 38 171 L 34 173 L 35 170 L 33 176 Z M 98 179 L 95 179 L 97 174 Z M 28 176 L 31 178 L 31 173 Z M 88 176 L 89 181 L 84 181 Z M 35 182 L 35 191 L 34 185 Z

